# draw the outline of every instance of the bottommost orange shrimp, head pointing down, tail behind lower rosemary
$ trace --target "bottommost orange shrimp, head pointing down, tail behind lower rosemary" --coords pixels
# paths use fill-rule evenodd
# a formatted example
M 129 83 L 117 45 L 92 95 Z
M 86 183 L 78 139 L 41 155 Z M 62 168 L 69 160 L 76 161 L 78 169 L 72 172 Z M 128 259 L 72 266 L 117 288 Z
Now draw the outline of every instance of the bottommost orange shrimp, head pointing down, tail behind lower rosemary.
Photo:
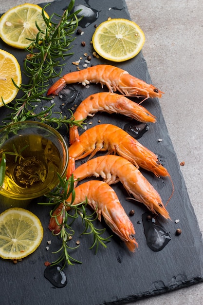
M 133 236 L 135 230 L 115 191 L 107 183 L 97 180 L 85 182 L 76 187 L 74 191 L 74 205 L 85 201 L 87 197 L 88 204 L 98 214 L 99 221 L 101 221 L 102 215 L 111 230 L 125 242 L 130 251 L 134 252 L 135 248 L 138 247 Z M 67 202 L 71 202 L 71 196 L 67 199 Z M 54 215 L 59 215 L 62 208 L 63 203 L 58 206 Z M 57 216 L 59 224 L 62 224 L 62 220 L 63 216 Z M 60 227 L 56 224 L 54 217 L 50 219 L 49 229 L 55 233 L 60 231 Z

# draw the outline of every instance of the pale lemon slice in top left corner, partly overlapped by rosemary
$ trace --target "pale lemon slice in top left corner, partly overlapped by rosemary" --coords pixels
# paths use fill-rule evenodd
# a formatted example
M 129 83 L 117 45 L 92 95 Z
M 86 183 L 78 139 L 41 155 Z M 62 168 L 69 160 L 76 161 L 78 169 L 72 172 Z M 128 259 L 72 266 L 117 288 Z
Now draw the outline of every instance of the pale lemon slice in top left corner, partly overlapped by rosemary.
M 42 17 L 42 8 L 37 4 L 25 3 L 9 9 L 0 19 L 0 38 L 8 45 L 24 49 L 36 39 L 39 32 L 36 22 L 41 30 L 46 29 Z M 49 16 L 45 13 L 45 16 Z M 43 36 L 43 35 L 42 35 Z

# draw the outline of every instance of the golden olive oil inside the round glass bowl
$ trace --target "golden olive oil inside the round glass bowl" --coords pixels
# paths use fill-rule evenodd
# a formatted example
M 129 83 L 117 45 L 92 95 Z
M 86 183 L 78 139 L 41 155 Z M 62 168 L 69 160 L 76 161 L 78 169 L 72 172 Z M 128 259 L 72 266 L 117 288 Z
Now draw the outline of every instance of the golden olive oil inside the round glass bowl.
M 6 172 L 1 194 L 9 197 L 33 198 L 42 190 L 56 185 L 57 172 L 62 171 L 63 149 L 39 134 L 14 135 L 1 146 L 6 156 Z M 44 194 L 45 194 L 44 193 Z

